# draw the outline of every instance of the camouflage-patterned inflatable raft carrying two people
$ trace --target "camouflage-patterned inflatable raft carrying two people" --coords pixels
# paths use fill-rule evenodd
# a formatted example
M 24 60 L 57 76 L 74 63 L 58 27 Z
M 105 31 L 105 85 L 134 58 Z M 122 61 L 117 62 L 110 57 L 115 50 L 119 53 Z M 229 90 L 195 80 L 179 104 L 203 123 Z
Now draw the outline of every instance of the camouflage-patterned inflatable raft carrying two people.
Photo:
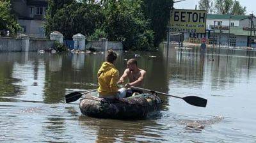
M 88 93 L 80 100 L 82 114 L 110 119 L 145 119 L 157 114 L 162 101 L 156 94 L 138 94 L 120 100 L 97 97 L 97 92 Z

